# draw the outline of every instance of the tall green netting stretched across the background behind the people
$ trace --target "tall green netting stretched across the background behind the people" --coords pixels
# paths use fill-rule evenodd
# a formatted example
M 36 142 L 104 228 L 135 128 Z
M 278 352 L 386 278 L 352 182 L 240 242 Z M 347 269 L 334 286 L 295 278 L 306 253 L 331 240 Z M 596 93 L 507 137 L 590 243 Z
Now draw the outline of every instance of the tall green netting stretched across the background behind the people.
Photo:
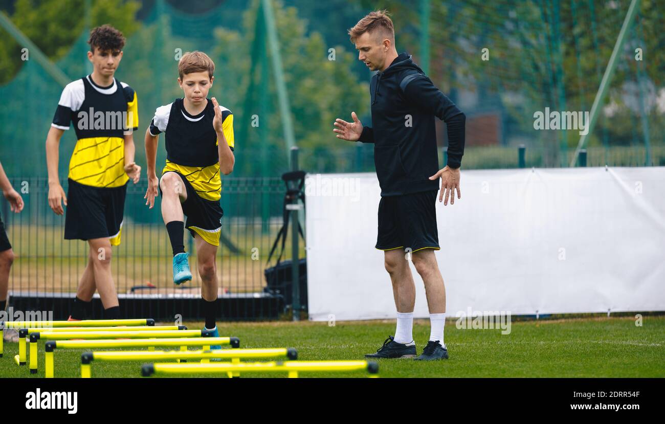
M 144 164 L 143 134 L 157 106 L 182 91 L 176 84 L 178 51 L 210 54 L 217 64 L 212 94 L 235 114 L 234 176 L 276 176 L 289 169 L 277 86 L 260 1 L 208 2 L 188 14 L 168 1 L 142 12 L 128 37 L 118 78 L 138 92 L 137 161 Z M 463 166 L 567 166 L 579 132 L 533 128 L 536 111 L 591 108 L 628 9 L 628 0 L 273 2 L 279 49 L 301 165 L 311 172 L 372 171 L 372 146 L 334 138 L 334 118 L 352 110 L 370 124 L 368 80 L 346 29 L 372 7 L 394 12 L 398 51 L 424 62 L 432 80 L 467 114 Z M 178 4 L 182 8 L 182 4 Z M 589 164 L 665 163 L 664 0 L 644 0 L 628 33 L 603 112 L 589 141 Z M 72 13 L 83 15 L 80 10 Z M 422 19 L 429 33 L 422 33 Z M 112 23 L 112 22 L 111 22 Z M 43 37 L 49 37 L 45 30 Z M 426 37 L 423 39 L 423 37 Z M 89 71 L 85 31 L 56 62 L 74 80 Z M 3 39 L 0 43 L 10 43 Z M 39 43 L 38 43 L 39 44 Z M 489 60 L 482 60 L 483 49 Z M 643 60 L 635 60 L 635 49 Z M 179 50 L 178 50 L 179 49 Z M 335 49 L 335 60 L 329 60 Z M 62 87 L 35 60 L 0 86 L 0 158 L 12 175 L 44 177 L 44 142 Z M 660 100 L 659 100 L 660 99 Z M 259 126 L 252 126 L 258 117 Z M 445 126 L 439 144 L 446 146 Z M 74 132 L 61 143 L 66 177 Z M 626 154 L 626 149 L 631 154 Z M 592 156 L 593 152 L 593 156 Z M 442 159 L 443 159 L 443 153 Z M 163 145 L 158 169 L 164 163 Z

